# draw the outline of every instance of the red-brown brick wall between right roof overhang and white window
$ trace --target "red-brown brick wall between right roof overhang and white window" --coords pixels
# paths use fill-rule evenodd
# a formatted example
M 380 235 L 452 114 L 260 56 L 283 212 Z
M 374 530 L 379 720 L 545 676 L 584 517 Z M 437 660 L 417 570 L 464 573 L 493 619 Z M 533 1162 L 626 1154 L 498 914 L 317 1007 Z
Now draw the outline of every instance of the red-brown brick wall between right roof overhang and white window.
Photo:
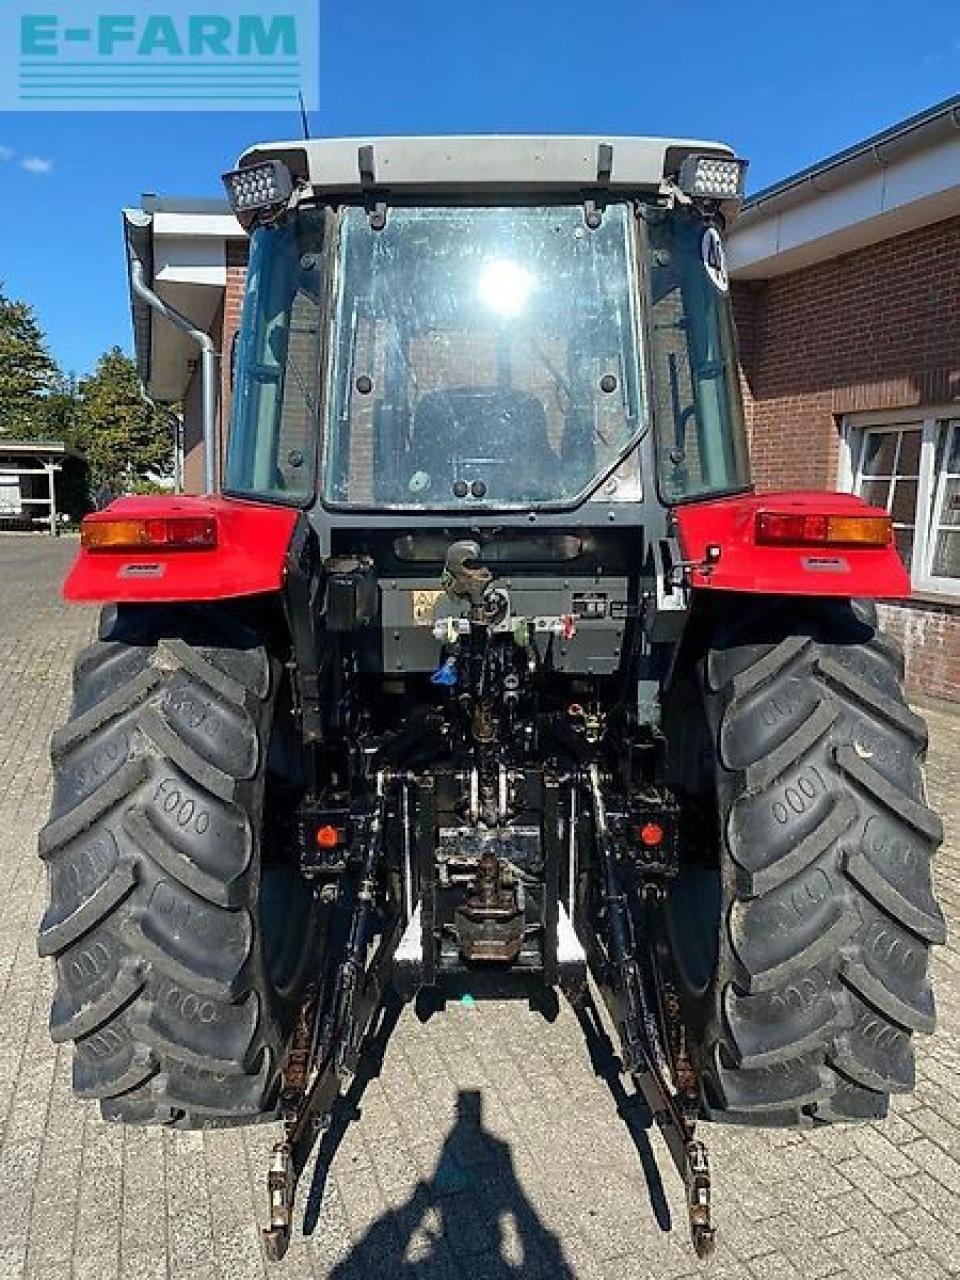
M 960 216 L 735 282 L 758 488 L 832 489 L 837 422 L 960 397 Z

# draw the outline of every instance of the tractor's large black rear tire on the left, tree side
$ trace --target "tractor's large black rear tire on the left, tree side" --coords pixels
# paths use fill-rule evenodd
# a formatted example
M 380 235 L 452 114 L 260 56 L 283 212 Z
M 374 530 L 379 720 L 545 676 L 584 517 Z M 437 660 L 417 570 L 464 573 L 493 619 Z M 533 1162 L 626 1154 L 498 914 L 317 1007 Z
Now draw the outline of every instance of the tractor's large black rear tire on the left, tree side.
M 310 890 L 262 840 L 279 664 L 224 612 L 109 611 L 101 635 L 40 836 L 51 1036 L 105 1119 L 248 1124 L 274 1111 L 312 954 Z

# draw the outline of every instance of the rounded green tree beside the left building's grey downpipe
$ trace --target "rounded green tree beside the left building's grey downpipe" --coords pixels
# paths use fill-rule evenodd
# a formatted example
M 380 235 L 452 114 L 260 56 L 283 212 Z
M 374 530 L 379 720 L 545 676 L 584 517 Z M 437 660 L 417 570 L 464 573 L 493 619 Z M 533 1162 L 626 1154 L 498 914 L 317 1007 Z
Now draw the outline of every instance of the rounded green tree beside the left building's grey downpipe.
M 76 424 L 73 443 L 87 456 L 95 492 L 133 493 L 173 470 L 170 428 L 143 399 L 137 366 L 119 347 L 79 384 Z

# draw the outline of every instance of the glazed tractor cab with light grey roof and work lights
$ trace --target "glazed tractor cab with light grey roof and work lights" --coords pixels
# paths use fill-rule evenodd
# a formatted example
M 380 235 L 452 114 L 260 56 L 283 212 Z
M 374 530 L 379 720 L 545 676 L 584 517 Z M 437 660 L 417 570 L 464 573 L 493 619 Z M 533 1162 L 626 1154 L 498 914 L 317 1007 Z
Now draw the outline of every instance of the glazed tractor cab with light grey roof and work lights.
M 636 524 L 658 489 L 748 488 L 721 239 L 742 172 L 662 140 L 248 154 L 227 175 L 252 250 L 225 492 L 323 525 Z

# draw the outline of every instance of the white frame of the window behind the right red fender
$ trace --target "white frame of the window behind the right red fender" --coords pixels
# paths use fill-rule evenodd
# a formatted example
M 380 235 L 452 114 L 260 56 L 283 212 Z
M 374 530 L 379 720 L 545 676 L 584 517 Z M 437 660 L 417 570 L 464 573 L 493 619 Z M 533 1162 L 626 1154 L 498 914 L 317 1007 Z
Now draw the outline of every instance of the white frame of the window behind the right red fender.
M 957 404 L 845 415 L 841 420 L 837 488 L 856 493 L 863 445 L 870 431 L 895 431 L 910 426 L 919 426 L 922 430 L 910 584 L 914 591 L 960 596 L 960 576 L 938 577 L 931 571 L 946 492 L 946 470 L 940 476 L 934 475 L 937 439 L 943 433 L 943 458 L 948 458 L 951 435 L 960 430 Z M 960 532 L 956 536 L 960 538 Z

